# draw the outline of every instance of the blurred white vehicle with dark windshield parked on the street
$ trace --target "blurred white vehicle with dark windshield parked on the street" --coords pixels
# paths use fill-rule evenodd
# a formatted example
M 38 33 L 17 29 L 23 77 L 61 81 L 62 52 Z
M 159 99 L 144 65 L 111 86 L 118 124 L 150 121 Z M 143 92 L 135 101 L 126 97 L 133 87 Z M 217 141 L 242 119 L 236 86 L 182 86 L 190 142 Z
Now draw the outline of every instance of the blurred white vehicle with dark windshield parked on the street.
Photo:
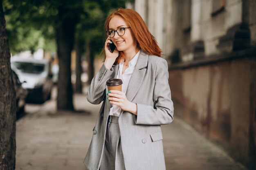
M 11 57 L 11 67 L 17 73 L 22 87 L 27 89 L 27 102 L 44 103 L 51 98 L 52 73 L 48 60 Z

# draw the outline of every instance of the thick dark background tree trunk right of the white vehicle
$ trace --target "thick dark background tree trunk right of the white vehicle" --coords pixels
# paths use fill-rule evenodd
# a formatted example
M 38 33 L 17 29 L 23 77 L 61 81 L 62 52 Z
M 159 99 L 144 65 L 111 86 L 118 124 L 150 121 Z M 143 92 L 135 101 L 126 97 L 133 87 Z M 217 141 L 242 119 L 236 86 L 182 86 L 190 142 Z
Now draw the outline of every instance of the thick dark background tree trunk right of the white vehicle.
M 73 88 L 71 83 L 71 51 L 74 44 L 74 18 L 68 17 L 71 13 L 65 6 L 58 8 L 56 18 L 56 40 L 57 53 L 59 58 L 58 74 L 58 110 L 74 110 L 73 107 Z

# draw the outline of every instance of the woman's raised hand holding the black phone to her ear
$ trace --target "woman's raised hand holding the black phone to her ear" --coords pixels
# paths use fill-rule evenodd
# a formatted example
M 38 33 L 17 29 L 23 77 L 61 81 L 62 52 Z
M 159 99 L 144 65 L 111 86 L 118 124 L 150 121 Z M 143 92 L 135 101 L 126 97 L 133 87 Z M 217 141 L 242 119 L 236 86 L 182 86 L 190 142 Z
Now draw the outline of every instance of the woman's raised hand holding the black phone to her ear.
M 112 44 L 114 42 L 111 41 L 111 39 L 108 37 L 106 42 L 105 42 L 105 53 L 106 53 L 106 59 L 105 59 L 105 66 L 106 68 L 108 68 L 110 70 L 110 68 L 112 67 L 112 65 L 115 63 L 116 58 L 119 55 L 119 51 L 116 49 L 113 51 L 113 53 L 111 53 L 108 49 L 108 43 Z

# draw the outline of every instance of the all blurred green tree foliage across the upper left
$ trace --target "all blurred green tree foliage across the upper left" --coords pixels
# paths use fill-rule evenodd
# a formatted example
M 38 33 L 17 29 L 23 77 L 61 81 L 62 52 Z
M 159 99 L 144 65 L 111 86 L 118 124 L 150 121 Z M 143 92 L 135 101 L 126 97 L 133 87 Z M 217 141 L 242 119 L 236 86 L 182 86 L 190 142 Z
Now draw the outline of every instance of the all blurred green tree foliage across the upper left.
M 58 7 L 65 5 L 70 13 L 65 17 L 76 15 L 76 38 L 90 40 L 99 51 L 103 45 L 103 23 L 110 9 L 124 7 L 125 0 L 3 0 L 7 35 L 11 53 L 39 48 L 56 51 L 55 27 L 61 23 L 56 20 Z

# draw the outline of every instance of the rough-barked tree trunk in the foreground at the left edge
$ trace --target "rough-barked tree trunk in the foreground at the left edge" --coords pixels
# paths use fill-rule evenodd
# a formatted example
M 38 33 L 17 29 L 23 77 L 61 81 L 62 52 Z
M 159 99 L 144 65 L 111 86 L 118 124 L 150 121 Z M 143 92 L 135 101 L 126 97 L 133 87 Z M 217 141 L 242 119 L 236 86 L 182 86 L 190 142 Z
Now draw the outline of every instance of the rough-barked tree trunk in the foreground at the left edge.
M 10 57 L 2 0 L 0 0 L 0 170 L 15 169 L 16 97 Z

